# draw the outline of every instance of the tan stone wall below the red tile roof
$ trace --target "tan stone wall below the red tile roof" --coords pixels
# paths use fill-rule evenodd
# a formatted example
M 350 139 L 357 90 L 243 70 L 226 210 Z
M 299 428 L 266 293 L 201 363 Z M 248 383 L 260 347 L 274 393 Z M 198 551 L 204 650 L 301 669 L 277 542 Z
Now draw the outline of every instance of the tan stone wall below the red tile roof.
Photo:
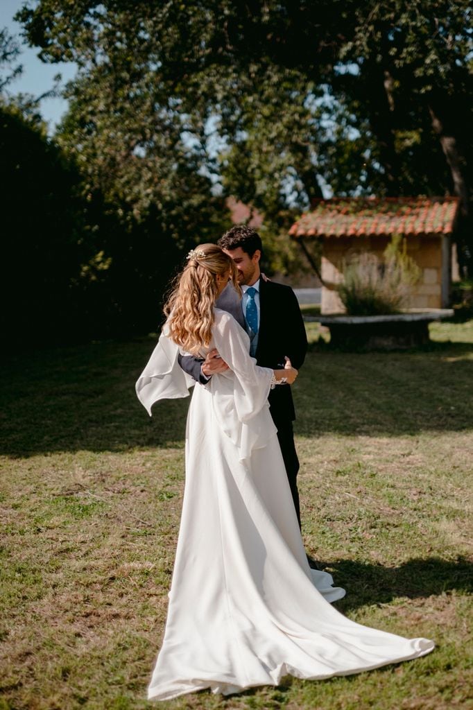
M 420 280 L 413 286 L 411 297 L 406 302 L 406 308 L 442 308 L 447 305 L 450 265 L 445 263 L 442 265 L 442 241 L 444 239 L 447 238 L 442 235 L 408 237 L 407 253 L 420 268 Z M 381 259 L 389 241 L 387 236 L 343 236 L 324 240 L 322 279 L 329 284 L 329 288 L 322 288 L 322 313 L 344 312 L 337 291 L 330 288 L 331 285 L 342 280 L 341 269 L 344 259 L 360 251 L 370 251 Z M 447 278 L 445 277 L 446 269 Z

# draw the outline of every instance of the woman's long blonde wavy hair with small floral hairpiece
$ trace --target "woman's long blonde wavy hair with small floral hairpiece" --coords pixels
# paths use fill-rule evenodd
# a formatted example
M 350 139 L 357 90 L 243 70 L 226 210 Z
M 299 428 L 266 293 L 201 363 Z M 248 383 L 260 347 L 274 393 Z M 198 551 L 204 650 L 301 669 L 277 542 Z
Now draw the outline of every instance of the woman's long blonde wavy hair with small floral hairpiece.
M 214 305 L 217 300 L 217 275 L 229 273 L 241 295 L 237 267 L 216 244 L 201 244 L 189 252 L 187 264 L 175 279 L 164 306 L 171 339 L 183 350 L 197 355 L 212 339 Z

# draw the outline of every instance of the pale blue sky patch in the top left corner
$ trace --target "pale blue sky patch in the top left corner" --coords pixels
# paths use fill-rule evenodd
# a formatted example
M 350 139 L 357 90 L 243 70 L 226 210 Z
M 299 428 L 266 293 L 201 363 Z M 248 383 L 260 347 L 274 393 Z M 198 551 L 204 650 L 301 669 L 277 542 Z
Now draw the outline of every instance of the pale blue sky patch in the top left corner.
M 23 65 L 23 75 L 10 84 L 9 91 L 12 94 L 21 92 L 37 97 L 53 87 L 55 75 L 62 75 L 62 82 L 72 79 L 76 67 L 72 62 L 45 64 L 38 59 L 38 49 L 26 45 L 21 37 L 21 25 L 13 21 L 13 16 L 24 4 L 25 0 L 0 0 L 0 27 L 8 28 L 9 33 L 21 44 L 19 63 Z M 50 132 L 53 132 L 55 124 L 66 110 L 67 102 L 64 99 L 43 99 L 41 113 L 48 122 Z

